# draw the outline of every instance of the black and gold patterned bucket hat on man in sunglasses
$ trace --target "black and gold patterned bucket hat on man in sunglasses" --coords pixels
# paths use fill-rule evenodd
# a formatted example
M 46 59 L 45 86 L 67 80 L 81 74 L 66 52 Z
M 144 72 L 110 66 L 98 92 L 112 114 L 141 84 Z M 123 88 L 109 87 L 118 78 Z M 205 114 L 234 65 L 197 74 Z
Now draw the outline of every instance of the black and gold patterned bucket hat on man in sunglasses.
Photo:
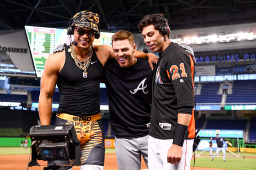
M 80 11 L 73 16 L 73 23 L 71 26 L 83 27 L 93 29 L 99 32 L 100 15 L 91 11 Z

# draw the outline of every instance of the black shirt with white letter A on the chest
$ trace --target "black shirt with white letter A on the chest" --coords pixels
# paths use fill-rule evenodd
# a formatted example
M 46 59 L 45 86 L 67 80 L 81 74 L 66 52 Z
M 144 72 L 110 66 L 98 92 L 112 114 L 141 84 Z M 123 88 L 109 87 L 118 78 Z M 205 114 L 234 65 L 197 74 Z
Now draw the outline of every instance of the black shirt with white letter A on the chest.
M 153 71 L 146 60 L 137 58 L 131 67 L 116 60 L 105 65 L 111 130 L 117 138 L 138 138 L 148 134 Z

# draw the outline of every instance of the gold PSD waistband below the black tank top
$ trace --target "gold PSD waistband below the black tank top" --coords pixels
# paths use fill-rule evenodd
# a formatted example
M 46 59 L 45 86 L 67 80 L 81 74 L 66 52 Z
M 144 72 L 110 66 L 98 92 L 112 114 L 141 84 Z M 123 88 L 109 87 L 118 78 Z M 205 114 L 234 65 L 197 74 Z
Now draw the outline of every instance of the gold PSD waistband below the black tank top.
M 73 122 L 91 122 L 91 121 L 99 120 L 101 118 L 100 113 L 97 113 L 91 116 L 85 116 L 85 117 L 73 116 L 67 113 L 58 113 L 56 116 L 64 120 L 73 121 Z

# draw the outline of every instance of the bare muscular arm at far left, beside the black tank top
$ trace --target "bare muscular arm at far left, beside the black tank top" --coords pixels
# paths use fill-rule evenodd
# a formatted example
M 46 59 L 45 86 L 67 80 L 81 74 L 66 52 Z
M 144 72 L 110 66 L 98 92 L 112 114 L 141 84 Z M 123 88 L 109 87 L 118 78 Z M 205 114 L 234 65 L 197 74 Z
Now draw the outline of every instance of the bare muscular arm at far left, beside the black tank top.
M 52 117 L 52 97 L 58 79 L 60 68 L 59 56 L 62 52 L 53 54 L 47 58 L 45 69 L 41 78 L 41 90 L 39 95 L 39 117 L 41 125 L 50 125 Z

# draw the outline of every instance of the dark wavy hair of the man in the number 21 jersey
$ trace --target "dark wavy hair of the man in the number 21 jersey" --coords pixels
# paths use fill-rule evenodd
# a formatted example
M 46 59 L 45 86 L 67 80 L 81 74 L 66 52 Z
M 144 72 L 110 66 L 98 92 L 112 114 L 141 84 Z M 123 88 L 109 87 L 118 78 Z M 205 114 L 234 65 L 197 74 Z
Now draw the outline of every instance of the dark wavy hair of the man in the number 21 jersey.
M 158 30 L 159 33 L 162 33 L 162 27 L 166 25 L 169 27 L 168 20 L 164 16 L 164 14 L 156 13 L 156 14 L 149 14 L 145 15 L 139 22 L 138 28 L 140 32 L 142 32 L 144 27 L 148 25 L 154 25 L 155 30 Z M 170 38 L 170 33 L 167 35 Z

